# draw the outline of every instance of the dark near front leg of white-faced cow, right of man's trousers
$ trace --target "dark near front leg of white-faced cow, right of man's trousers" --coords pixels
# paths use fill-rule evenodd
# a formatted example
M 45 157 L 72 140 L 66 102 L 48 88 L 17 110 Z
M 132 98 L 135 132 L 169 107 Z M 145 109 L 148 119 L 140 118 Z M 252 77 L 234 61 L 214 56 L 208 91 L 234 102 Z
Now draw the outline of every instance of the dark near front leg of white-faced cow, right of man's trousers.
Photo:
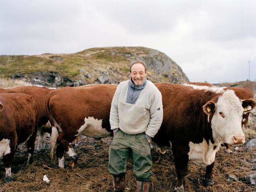
M 176 147 L 175 144 L 172 145 L 174 165 L 176 169 L 176 187 L 174 191 L 184 192 L 184 177 L 188 172 L 188 154 L 184 151 L 186 147 Z M 180 150 L 179 150 L 180 149 Z M 183 149 L 183 150 L 181 150 Z

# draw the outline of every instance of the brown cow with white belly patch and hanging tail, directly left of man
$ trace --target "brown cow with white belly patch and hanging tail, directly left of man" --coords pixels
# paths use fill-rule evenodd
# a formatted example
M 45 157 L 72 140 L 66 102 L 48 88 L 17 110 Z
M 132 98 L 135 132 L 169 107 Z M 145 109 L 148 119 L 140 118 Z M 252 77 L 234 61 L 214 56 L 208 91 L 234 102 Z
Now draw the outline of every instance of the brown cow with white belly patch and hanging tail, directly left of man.
M 75 165 L 78 156 L 71 143 L 77 136 L 111 135 L 109 112 L 116 87 L 105 84 L 64 87 L 48 94 L 45 105 L 53 125 L 51 158 L 54 159 L 56 150 L 59 167 L 64 167 L 64 151 L 73 158 L 71 165 Z

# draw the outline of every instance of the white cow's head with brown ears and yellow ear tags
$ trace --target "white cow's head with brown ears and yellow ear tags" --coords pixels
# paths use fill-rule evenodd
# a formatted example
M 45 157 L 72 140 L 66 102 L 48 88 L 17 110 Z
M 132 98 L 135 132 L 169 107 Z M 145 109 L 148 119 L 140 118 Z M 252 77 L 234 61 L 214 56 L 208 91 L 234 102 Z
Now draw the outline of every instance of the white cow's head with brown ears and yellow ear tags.
M 253 99 L 240 100 L 233 90 L 227 90 L 207 102 L 203 106 L 203 111 L 211 117 L 213 138 L 227 144 L 244 143 L 242 116 L 255 106 L 256 102 Z

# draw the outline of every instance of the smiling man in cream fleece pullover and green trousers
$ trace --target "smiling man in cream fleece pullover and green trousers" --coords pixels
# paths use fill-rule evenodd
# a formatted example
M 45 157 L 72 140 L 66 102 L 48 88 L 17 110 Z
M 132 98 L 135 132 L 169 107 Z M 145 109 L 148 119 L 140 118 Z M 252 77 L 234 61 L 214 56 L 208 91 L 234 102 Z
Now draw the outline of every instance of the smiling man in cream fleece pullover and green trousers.
M 130 75 L 117 86 L 112 100 L 109 121 L 114 138 L 109 147 L 108 169 L 113 175 L 114 191 L 124 191 L 127 160 L 132 154 L 136 191 L 147 192 L 152 167 L 150 142 L 163 120 L 162 95 L 146 79 L 144 61 L 132 62 Z

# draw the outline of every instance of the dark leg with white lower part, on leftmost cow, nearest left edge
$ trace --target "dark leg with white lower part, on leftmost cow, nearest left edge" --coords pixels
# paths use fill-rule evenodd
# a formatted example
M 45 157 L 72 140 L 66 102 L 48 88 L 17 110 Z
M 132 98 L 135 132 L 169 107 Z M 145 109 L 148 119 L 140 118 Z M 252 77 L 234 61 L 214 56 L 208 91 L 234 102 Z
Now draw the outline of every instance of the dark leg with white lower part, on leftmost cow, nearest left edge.
M 15 154 L 16 145 L 10 146 L 10 153 L 5 154 L 3 156 L 3 163 L 5 168 L 5 182 L 12 181 L 12 172 L 11 172 L 11 165 L 12 165 L 12 159 Z

